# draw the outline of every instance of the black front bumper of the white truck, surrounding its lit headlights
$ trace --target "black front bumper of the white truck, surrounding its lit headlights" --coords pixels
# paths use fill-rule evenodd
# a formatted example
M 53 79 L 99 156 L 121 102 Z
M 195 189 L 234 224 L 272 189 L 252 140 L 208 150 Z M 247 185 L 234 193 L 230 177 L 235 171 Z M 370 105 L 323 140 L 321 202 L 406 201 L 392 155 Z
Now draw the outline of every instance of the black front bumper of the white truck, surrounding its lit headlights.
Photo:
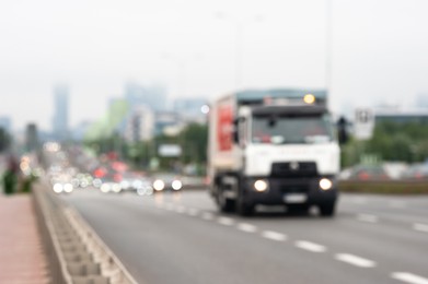
M 320 180 L 323 178 L 332 181 L 329 189 L 322 189 Z M 254 187 L 257 180 L 267 184 L 267 189 L 257 191 Z M 247 204 L 327 204 L 334 203 L 337 199 L 337 182 L 333 177 L 313 177 L 313 178 L 245 178 L 243 180 L 243 196 Z

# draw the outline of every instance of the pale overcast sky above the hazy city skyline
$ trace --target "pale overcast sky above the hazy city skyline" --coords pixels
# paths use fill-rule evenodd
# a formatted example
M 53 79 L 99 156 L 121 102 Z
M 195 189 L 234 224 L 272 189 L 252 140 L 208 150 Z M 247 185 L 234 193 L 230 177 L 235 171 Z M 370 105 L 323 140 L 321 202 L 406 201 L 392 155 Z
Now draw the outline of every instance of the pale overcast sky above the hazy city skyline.
M 336 113 L 412 106 L 428 95 L 428 1 L 331 3 Z M 326 87 L 326 7 L 327 0 L 2 0 L 0 116 L 15 128 L 37 122 L 50 130 L 59 83 L 70 87 L 71 126 L 102 116 L 127 82 L 209 99 L 236 88 Z

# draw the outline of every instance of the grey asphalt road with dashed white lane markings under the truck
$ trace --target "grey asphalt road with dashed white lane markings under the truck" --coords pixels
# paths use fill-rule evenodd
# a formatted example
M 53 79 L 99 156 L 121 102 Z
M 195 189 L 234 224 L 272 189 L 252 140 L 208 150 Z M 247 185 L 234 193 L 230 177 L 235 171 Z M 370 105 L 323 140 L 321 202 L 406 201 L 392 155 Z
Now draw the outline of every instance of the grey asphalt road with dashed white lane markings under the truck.
M 63 200 L 139 283 L 428 284 L 428 197 L 342 194 L 333 218 L 220 214 L 203 190 Z

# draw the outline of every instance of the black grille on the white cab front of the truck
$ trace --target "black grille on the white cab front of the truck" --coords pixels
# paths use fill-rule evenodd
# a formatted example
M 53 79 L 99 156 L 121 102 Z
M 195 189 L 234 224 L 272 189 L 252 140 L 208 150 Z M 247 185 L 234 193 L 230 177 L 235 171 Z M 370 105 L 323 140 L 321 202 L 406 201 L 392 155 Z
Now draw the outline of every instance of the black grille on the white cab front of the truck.
M 274 163 L 271 177 L 316 177 L 316 164 L 313 162 Z

